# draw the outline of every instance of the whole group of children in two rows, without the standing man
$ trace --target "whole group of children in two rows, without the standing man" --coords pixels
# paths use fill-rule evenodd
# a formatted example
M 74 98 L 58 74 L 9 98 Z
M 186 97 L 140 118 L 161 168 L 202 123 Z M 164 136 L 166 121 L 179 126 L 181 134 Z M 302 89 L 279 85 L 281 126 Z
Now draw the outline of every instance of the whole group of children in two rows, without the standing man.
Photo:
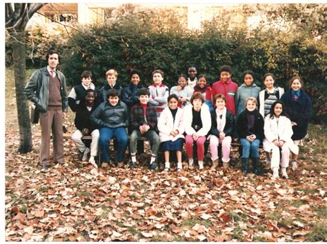
M 273 74 L 266 74 L 261 90 L 251 70 L 244 72 L 244 83 L 233 82 L 230 66 L 219 69 L 221 79 L 210 86 L 206 76 L 197 77 L 197 68 L 188 67 L 188 76 L 181 74 L 178 85 L 164 85 L 164 72 L 152 72 L 153 83 L 148 88 L 140 83 L 141 73 L 132 70 L 130 84 L 121 88 L 117 71 L 106 72 L 107 85 L 97 90 L 92 74 L 81 74 L 81 85 L 72 88 L 68 101 L 76 112 L 77 131 L 72 135 L 82 160 L 97 167 L 95 156 L 101 150 L 102 167 L 110 162 L 110 140 L 115 139 L 117 165 L 123 166 L 123 155 L 130 134 L 129 167 L 137 164 L 136 153 L 141 136 L 150 143 L 150 168 L 157 168 L 157 153 L 164 152 L 165 170 L 170 170 L 170 152 L 176 152 L 177 170 L 182 170 L 181 152 L 184 141 L 188 167 L 194 167 L 193 147 L 197 148 L 199 169 L 204 168 L 204 143 L 210 143 L 212 170 L 218 166 L 218 145 L 221 144 L 222 162 L 228 167 L 232 138 L 241 144 L 241 169 L 248 173 L 252 158 L 253 172 L 259 174 L 259 145 L 263 143 L 267 160 L 271 162 L 273 179 L 287 178 L 290 152 L 293 168 L 301 139 L 306 135 L 312 105 L 308 94 L 301 89 L 300 77 L 290 80 L 290 90 L 275 85 Z M 258 104 L 259 102 L 259 104 Z M 81 138 L 91 134 L 92 143 L 86 145 Z

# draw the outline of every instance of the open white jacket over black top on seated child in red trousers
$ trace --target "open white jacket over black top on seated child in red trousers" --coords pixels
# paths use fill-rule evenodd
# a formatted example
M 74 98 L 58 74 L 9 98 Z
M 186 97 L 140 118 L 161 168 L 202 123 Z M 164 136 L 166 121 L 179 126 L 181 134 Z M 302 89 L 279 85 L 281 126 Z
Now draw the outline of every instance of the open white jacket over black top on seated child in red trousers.
M 202 121 L 202 128 L 196 132 L 192 128 L 192 120 L 193 120 L 193 114 L 192 114 L 192 108 L 193 105 L 187 105 L 184 108 L 184 114 L 183 114 L 183 119 L 184 119 L 184 128 L 185 132 L 188 135 L 192 135 L 197 133 L 198 136 L 206 136 L 211 128 L 211 115 L 210 115 L 210 110 L 208 105 L 206 103 L 202 104 L 201 106 L 201 121 Z

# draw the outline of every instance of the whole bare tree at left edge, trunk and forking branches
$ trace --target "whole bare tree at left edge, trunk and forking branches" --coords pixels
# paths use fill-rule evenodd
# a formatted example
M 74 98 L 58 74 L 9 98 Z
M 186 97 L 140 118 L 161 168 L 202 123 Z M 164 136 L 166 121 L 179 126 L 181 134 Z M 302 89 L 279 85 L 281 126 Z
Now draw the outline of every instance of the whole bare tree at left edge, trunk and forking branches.
M 32 15 L 44 5 L 46 3 L 6 3 L 6 30 L 10 34 L 10 41 L 12 43 L 20 153 L 26 153 L 32 150 L 32 132 L 30 128 L 28 101 L 23 94 L 26 85 L 26 45 L 24 32 Z

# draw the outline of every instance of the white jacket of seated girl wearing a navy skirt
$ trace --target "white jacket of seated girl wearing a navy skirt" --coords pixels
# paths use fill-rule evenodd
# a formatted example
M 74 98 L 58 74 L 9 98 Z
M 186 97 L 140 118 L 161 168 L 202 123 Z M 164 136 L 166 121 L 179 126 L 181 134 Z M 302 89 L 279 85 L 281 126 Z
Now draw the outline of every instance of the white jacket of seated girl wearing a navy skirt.
M 172 112 L 167 107 L 165 108 L 158 119 L 158 129 L 160 142 L 163 141 L 176 141 L 179 138 L 184 138 L 184 126 L 183 126 L 183 110 L 177 108 L 177 113 L 175 116 L 175 121 L 172 118 Z M 177 136 L 170 135 L 172 130 L 178 130 L 179 134 Z

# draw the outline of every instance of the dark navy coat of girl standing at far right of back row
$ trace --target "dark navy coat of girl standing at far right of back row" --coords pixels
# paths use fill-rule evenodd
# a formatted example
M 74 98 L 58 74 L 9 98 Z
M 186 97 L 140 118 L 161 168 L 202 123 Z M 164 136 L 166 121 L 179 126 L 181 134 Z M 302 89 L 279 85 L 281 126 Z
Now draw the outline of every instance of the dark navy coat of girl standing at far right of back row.
M 281 101 L 285 103 L 286 114 L 290 117 L 290 121 L 296 122 L 293 125 L 293 140 L 300 140 L 306 136 L 310 118 L 313 113 L 313 104 L 306 92 L 301 90 L 300 96 L 295 101 L 291 90 L 288 90 L 281 96 Z

